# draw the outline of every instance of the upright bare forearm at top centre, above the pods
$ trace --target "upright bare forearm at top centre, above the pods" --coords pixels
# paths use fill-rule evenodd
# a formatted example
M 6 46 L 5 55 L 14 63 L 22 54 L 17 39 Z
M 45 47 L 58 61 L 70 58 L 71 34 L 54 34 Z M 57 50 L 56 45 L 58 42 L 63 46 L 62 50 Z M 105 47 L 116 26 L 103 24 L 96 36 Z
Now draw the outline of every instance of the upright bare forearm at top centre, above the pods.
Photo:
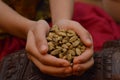
M 53 24 L 61 19 L 71 19 L 73 15 L 73 0 L 50 0 Z

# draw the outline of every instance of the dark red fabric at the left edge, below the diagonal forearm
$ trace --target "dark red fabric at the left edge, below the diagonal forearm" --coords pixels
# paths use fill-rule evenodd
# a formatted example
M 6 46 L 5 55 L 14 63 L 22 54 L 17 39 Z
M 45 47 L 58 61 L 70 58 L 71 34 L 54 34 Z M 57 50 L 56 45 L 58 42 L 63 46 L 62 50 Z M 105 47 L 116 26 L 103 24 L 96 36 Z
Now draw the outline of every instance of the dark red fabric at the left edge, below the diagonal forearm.
M 10 36 L 0 40 L 0 60 L 16 50 L 23 49 L 25 41 L 19 38 Z

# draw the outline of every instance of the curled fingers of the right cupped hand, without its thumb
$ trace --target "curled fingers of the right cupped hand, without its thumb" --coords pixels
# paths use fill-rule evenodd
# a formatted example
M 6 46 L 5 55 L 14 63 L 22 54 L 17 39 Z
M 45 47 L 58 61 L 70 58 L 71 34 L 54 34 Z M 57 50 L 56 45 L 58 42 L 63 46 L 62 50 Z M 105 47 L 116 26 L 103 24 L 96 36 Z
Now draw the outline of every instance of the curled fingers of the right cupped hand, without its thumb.
M 75 57 L 73 60 L 73 75 L 81 75 L 88 70 L 93 64 L 93 50 L 91 47 L 87 47 L 86 51 L 80 56 Z

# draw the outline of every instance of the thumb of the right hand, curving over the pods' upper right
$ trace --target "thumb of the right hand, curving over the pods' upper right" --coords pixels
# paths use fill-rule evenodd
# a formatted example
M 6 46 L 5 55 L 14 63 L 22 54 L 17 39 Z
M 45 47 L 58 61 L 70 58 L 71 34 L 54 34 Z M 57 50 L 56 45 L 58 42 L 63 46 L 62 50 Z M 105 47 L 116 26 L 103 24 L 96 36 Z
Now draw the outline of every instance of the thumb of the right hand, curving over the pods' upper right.
M 82 25 L 76 21 L 69 21 L 69 20 L 61 20 L 57 23 L 61 29 L 71 29 L 74 30 L 81 38 L 83 43 L 86 46 L 92 45 L 92 37 L 89 34 L 85 28 L 82 27 Z

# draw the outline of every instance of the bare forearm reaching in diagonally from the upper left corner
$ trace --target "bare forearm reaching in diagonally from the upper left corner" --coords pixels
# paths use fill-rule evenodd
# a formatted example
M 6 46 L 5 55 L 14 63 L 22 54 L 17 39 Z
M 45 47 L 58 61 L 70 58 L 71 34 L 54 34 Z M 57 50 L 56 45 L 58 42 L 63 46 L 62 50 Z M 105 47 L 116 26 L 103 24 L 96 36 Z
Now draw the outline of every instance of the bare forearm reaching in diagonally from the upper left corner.
M 0 29 L 12 35 L 26 38 L 28 30 L 33 24 L 34 21 L 22 17 L 0 1 Z

